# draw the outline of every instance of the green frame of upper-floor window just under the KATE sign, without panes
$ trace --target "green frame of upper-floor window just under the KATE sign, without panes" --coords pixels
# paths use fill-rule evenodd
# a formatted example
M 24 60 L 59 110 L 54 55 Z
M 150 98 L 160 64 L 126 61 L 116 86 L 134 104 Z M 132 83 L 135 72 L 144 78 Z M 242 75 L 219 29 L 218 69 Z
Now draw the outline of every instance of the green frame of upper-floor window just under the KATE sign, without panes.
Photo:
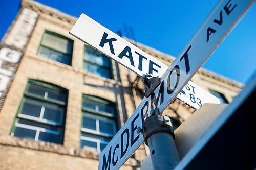
M 91 61 L 89 61 L 89 60 L 86 60 L 86 58 L 85 58 L 86 50 L 89 49 L 89 51 L 90 51 L 90 50 L 91 50 L 90 48 L 91 48 L 92 50 L 94 50 L 96 53 L 99 53 L 99 54 L 103 55 L 104 57 L 108 58 L 108 60 L 109 60 L 109 67 L 106 67 L 106 66 L 103 66 L 103 65 L 99 65 L 99 64 L 97 64 L 97 63 L 94 63 L 94 62 L 91 62 Z M 94 72 L 90 72 L 90 71 L 85 70 L 85 69 L 84 69 L 85 63 L 88 63 L 88 64 L 94 65 L 94 66 L 96 66 L 96 67 L 100 67 L 100 68 L 103 68 L 103 69 L 108 70 L 110 77 L 104 77 L 104 76 L 101 76 L 101 75 L 99 75 L 99 74 L 95 74 Z M 83 71 L 90 72 L 91 74 L 94 74 L 94 75 L 97 75 L 97 76 L 100 76 L 100 77 L 104 77 L 104 78 L 107 78 L 107 79 L 113 79 L 113 77 L 114 77 L 114 76 L 113 76 L 113 69 L 112 69 L 112 62 L 111 62 L 111 59 L 110 59 L 109 57 L 105 56 L 104 54 L 102 54 L 102 53 L 96 51 L 93 47 L 90 47 L 90 46 L 88 46 L 88 45 L 84 45 L 84 51 L 83 51 Z

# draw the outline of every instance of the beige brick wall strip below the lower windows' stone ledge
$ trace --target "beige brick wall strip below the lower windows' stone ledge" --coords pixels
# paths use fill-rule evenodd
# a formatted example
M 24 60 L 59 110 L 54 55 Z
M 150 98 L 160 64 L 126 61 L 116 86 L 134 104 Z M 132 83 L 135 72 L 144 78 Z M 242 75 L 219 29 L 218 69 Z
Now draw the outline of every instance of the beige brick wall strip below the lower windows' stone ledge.
M 0 169 L 98 169 L 98 161 L 27 148 L 0 145 Z

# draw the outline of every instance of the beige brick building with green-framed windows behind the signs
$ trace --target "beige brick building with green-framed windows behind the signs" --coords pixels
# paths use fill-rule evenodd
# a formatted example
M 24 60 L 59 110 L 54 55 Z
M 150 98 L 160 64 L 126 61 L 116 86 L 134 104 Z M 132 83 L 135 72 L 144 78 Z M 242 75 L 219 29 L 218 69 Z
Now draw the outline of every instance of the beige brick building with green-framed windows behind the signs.
M 77 18 L 23 0 L 0 43 L 0 169 L 97 169 L 98 155 L 144 95 L 142 80 L 68 34 Z M 173 56 L 134 43 L 166 65 Z M 90 59 L 89 59 L 90 58 Z M 191 79 L 229 103 L 242 84 L 204 69 Z M 175 127 L 195 110 L 175 100 Z M 144 144 L 121 169 L 139 169 Z

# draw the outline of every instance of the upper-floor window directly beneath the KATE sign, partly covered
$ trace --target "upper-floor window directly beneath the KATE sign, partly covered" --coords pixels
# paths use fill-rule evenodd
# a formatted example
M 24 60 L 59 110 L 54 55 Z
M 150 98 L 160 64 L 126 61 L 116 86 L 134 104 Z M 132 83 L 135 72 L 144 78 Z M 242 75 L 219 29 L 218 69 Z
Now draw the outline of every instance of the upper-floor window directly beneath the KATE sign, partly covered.
M 84 48 L 84 64 L 83 69 L 93 74 L 112 78 L 111 76 L 111 62 L 110 59 L 103 54 L 97 52 L 92 47 L 86 46 Z

